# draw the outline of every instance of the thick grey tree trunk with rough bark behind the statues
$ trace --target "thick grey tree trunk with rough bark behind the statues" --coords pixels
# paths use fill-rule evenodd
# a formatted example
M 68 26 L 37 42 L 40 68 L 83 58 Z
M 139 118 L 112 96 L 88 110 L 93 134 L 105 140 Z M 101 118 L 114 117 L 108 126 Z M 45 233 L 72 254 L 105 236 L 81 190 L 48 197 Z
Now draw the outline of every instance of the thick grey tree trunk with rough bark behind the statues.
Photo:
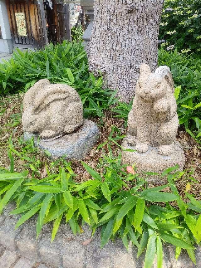
M 142 63 L 154 71 L 163 0 L 95 0 L 89 44 L 90 70 L 103 74 L 106 85 L 129 102 Z

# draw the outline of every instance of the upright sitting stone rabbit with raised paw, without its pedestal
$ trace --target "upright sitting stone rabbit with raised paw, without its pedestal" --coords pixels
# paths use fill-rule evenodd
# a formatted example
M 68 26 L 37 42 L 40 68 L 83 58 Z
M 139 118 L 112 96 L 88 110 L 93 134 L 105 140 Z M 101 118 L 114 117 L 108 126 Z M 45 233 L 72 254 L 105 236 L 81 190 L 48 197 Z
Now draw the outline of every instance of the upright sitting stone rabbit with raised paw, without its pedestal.
M 177 105 L 170 69 L 160 66 L 152 73 L 140 67 L 133 107 L 128 115 L 128 145 L 139 153 L 156 147 L 162 156 L 171 155 L 178 129 Z

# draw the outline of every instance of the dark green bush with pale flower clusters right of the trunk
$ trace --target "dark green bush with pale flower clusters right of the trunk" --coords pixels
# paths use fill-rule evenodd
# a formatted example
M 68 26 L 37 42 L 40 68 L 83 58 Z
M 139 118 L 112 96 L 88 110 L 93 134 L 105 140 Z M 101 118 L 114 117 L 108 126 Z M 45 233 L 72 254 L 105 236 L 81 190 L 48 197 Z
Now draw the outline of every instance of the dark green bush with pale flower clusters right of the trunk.
M 160 46 L 201 55 L 200 0 L 165 0 L 160 22 Z

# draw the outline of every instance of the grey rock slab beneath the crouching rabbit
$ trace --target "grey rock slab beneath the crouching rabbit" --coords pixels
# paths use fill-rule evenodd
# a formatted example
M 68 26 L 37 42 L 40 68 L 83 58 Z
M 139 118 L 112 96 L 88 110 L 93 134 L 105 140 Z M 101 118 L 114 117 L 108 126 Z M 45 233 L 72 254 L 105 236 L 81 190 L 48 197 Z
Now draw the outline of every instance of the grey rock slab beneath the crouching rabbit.
M 38 136 L 24 133 L 24 139 L 28 140 L 34 137 L 35 145 L 42 150 L 48 150 L 53 157 L 62 157 L 66 159 L 83 159 L 94 147 L 99 137 L 99 129 L 96 124 L 90 120 L 84 119 L 83 125 L 75 132 L 66 134 L 60 138 L 51 141 L 39 141 Z

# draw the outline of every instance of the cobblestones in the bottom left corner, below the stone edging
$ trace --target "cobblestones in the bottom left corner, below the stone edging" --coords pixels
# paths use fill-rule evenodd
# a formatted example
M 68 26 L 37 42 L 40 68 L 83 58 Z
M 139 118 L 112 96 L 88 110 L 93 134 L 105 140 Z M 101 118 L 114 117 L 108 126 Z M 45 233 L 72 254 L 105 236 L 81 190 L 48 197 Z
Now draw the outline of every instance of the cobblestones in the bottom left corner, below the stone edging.
M 5 249 L 0 245 L 0 268 L 51 268 L 40 262 L 29 260 L 14 251 Z

